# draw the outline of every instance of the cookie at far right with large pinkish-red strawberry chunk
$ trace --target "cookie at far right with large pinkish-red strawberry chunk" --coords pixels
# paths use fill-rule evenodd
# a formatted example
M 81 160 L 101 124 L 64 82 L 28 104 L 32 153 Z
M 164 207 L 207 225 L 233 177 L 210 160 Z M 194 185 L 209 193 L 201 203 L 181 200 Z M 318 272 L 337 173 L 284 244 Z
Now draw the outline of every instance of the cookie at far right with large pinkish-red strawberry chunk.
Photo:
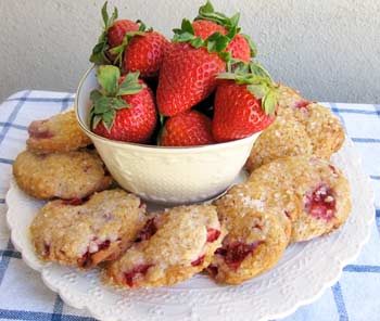
M 276 192 L 293 191 L 301 211 L 291 218 L 291 242 L 312 240 L 342 226 L 351 211 L 349 181 L 329 160 L 294 156 L 268 163 L 249 178 Z

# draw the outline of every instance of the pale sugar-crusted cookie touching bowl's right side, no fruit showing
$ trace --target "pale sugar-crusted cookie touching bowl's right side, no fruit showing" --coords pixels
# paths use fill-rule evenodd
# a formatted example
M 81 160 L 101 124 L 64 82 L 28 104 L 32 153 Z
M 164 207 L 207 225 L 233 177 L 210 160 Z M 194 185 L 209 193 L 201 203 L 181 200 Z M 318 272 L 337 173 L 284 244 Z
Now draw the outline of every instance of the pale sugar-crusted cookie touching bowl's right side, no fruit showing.
M 312 154 L 313 144 L 305 126 L 294 118 L 278 117 L 254 142 L 245 167 L 251 172 L 280 157 Z

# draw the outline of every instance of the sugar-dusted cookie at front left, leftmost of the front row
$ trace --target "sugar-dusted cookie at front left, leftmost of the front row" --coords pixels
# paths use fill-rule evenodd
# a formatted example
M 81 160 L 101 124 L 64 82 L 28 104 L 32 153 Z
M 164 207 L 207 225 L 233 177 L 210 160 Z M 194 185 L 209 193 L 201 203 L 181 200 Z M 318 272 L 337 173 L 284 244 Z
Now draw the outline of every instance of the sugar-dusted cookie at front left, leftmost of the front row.
M 144 223 L 145 207 L 139 197 L 110 190 L 83 204 L 46 204 L 33 220 L 30 234 L 41 259 L 88 269 L 117 258 Z

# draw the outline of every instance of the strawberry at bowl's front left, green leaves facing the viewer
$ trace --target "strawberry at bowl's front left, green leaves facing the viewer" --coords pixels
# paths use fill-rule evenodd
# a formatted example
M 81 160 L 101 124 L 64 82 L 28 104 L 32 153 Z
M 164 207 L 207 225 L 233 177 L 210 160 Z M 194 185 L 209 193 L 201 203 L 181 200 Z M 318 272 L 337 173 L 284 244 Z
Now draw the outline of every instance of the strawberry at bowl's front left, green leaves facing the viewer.
M 90 121 L 94 133 L 111 140 L 147 143 L 157 121 L 154 97 L 139 73 L 121 77 L 117 67 L 100 66 L 100 90 L 91 92 Z

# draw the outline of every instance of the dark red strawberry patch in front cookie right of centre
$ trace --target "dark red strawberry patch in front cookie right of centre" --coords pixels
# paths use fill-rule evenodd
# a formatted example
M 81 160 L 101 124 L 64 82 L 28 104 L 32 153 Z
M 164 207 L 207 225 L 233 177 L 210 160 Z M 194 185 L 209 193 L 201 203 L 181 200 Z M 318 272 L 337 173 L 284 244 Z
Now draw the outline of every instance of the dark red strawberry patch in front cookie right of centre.
M 225 247 L 218 248 L 216 254 L 225 257 L 225 262 L 230 269 L 237 270 L 245 257 L 252 254 L 262 243 L 262 241 L 256 241 L 250 244 L 235 242 L 227 244 Z

